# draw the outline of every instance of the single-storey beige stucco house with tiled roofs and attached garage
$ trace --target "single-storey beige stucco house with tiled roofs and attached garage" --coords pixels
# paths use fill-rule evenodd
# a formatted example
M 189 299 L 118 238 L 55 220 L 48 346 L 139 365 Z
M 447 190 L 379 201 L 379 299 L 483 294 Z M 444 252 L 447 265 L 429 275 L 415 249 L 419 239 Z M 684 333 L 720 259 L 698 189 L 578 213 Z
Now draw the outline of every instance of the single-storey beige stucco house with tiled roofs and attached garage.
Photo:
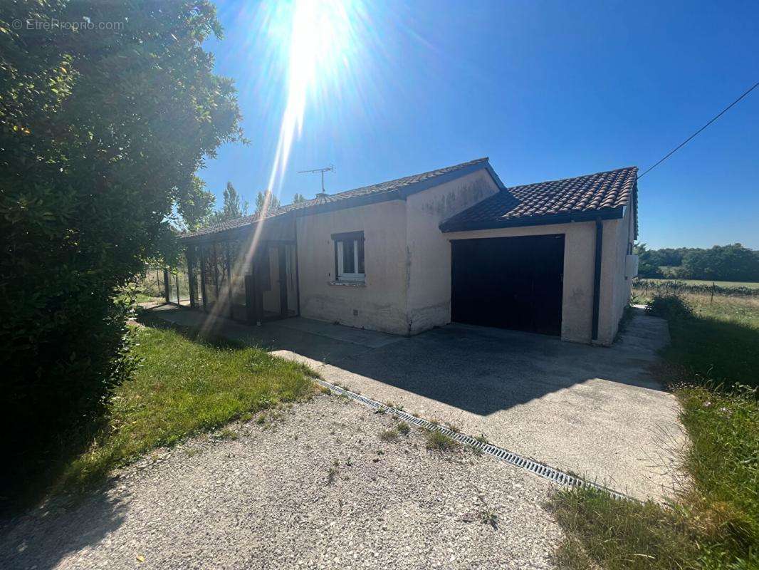
M 506 188 L 487 158 L 187 233 L 191 304 L 393 334 L 451 321 L 611 344 L 637 271 L 635 167 Z

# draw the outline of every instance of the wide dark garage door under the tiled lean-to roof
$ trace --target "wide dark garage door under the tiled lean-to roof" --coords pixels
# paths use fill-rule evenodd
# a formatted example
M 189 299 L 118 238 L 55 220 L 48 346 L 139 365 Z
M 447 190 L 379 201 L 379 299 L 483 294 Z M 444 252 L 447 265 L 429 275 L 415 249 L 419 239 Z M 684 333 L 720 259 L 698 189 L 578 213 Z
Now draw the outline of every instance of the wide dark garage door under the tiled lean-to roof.
M 452 321 L 561 334 L 564 236 L 459 239 Z

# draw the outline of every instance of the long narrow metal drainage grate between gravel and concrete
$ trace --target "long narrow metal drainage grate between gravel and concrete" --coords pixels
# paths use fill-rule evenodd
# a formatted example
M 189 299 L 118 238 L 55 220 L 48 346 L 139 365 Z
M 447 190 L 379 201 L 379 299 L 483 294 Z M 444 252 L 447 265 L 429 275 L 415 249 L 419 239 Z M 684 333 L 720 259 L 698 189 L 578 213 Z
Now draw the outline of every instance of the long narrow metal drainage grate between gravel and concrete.
M 492 455 L 494 458 L 515 465 L 521 469 L 528 470 L 530 473 L 537 475 L 537 477 L 543 477 L 543 479 L 553 481 L 553 483 L 570 487 L 591 487 L 593 489 L 606 491 L 616 499 L 635 500 L 621 492 L 615 491 L 614 489 L 609 489 L 608 487 L 599 485 L 598 483 L 584 480 L 581 477 L 570 475 L 569 473 L 565 473 L 564 471 L 560 471 L 554 467 L 549 467 L 548 465 L 538 463 L 537 461 L 524 458 L 521 455 L 514 453 L 513 451 L 508 451 L 504 448 L 499 448 L 497 445 L 482 442 L 479 439 L 474 439 L 470 435 L 454 432 L 451 429 L 440 426 L 437 423 L 432 423 L 430 421 L 423 420 L 420 417 L 412 416 L 410 413 L 405 412 L 404 410 L 398 410 L 398 408 L 386 406 L 385 404 L 381 404 L 380 402 L 372 400 L 366 396 L 362 396 L 361 394 L 356 394 L 355 392 L 351 392 L 350 390 L 346 390 L 340 386 L 325 382 L 321 378 L 317 378 L 317 383 L 324 388 L 327 388 L 329 391 L 338 394 L 339 396 L 349 397 L 351 400 L 355 400 L 361 404 L 364 404 L 364 406 L 370 407 L 373 410 L 386 411 L 392 414 L 392 416 L 396 416 L 407 423 L 414 424 L 414 426 L 441 432 L 463 445 L 469 445 L 472 448 L 479 449 L 483 453 Z

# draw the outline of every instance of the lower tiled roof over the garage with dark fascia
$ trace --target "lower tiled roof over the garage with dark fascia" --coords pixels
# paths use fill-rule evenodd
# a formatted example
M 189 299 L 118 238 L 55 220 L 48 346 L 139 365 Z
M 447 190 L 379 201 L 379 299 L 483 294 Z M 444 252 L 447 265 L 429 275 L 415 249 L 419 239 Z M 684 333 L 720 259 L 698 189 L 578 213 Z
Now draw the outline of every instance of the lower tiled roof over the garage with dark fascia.
M 584 214 L 613 214 L 635 192 L 638 167 L 505 188 L 440 224 L 444 232 L 546 223 Z

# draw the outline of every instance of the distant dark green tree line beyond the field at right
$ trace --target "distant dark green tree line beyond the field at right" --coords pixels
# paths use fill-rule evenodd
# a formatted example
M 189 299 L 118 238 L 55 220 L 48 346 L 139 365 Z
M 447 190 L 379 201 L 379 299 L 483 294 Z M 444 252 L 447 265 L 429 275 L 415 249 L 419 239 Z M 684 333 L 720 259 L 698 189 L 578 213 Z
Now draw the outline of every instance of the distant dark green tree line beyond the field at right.
M 715 245 L 710 249 L 647 249 L 635 246 L 640 277 L 705 279 L 715 281 L 759 281 L 759 251 L 740 243 Z

